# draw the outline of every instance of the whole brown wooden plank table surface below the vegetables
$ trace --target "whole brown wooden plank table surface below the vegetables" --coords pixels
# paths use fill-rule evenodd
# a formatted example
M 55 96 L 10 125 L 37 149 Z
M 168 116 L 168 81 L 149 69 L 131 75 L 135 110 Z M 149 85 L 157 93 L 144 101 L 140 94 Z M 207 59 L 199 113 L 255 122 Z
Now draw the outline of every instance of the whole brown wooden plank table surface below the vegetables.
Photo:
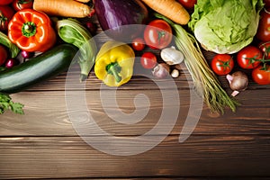
M 208 60 L 212 56 L 212 53 L 205 52 Z M 74 76 L 76 80 L 76 73 L 73 75 L 72 72 L 68 76 Z M 175 107 L 176 110 L 179 108 L 176 121 L 167 120 L 167 124 L 152 133 L 147 132 L 157 128 L 155 125 L 166 108 L 161 94 L 164 89 L 150 78 L 133 76 L 128 84 L 117 89 L 116 96 L 113 96 L 114 90 L 105 89 L 105 94 L 112 94 L 112 97 L 106 96 L 107 100 L 116 99 L 119 105 L 119 108 L 106 107 L 112 112 L 131 113 L 149 108 L 141 121 L 124 124 L 113 121 L 104 111 L 101 82 L 94 72 L 91 72 L 84 89 L 78 89 L 76 85 L 65 88 L 66 77 L 67 72 L 64 72 L 21 93 L 12 94 L 15 102 L 25 104 L 25 114 L 5 112 L 0 116 L 0 179 L 270 177 L 270 85 L 256 85 L 251 81 L 247 90 L 236 97 L 241 103 L 237 112 L 226 109 L 220 115 L 203 105 L 192 134 L 180 143 L 184 122 L 201 111 L 191 104 L 192 89 L 188 82 L 192 80 L 185 67 L 181 76 L 174 79 L 180 100 L 179 107 Z M 223 76 L 220 83 L 230 94 L 229 84 Z M 175 93 L 175 89 L 170 88 L 165 90 Z M 85 126 L 86 139 L 89 134 L 90 138 L 100 139 L 97 143 L 101 148 L 112 148 L 117 155 L 110 150 L 104 152 L 94 148 L 78 135 L 73 125 L 76 119 L 71 121 L 69 115 L 80 110 L 67 111 L 68 92 L 85 94 L 88 113 L 95 121 L 93 124 L 85 118 L 85 121 L 77 122 Z M 137 94 L 147 96 L 148 104 L 137 103 L 135 107 L 133 101 Z M 168 95 L 166 98 L 172 97 Z M 94 125 L 107 134 L 100 133 Z M 172 130 L 165 133 L 169 128 Z M 149 140 L 140 140 L 138 137 L 142 135 Z M 132 146 L 134 138 L 138 139 Z M 130 143 L 126 143 L 129 139 Z M 144 151 L 151 139 L 162 140 Z M 142 152 L 132 154 L 136 150 Z

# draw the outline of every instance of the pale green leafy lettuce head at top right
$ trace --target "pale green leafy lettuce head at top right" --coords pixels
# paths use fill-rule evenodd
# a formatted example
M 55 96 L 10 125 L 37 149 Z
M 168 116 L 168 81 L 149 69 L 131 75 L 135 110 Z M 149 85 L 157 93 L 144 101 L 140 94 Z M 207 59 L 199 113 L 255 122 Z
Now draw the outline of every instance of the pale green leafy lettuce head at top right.
M 231 54 L 253 40 L 263 0 L 198 0 L 189 28 L 202 47 Z

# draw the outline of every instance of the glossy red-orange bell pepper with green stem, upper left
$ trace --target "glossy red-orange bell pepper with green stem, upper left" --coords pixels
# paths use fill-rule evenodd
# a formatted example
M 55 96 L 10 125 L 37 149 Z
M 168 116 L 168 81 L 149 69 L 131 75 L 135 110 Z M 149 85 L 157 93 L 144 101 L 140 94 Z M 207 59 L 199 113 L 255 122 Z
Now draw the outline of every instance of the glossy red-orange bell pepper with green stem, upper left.
M 57 39 L 49 16 L 33 9 L 24 9 L 14 14 L 8 24 L 8 37 L 20 49 L 29 52 L 44 52 Z

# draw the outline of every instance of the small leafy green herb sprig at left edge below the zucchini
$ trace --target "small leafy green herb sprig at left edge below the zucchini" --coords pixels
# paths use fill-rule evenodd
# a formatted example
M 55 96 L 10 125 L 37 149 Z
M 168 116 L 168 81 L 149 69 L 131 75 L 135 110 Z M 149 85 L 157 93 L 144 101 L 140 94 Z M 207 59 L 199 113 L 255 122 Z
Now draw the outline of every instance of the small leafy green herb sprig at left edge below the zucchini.
M 0 114 L 4 113 L 6 110 L 11 110 L 19 114 L 24 113 L 22 103 L 14 103 L 8 94 L 0 93 Z

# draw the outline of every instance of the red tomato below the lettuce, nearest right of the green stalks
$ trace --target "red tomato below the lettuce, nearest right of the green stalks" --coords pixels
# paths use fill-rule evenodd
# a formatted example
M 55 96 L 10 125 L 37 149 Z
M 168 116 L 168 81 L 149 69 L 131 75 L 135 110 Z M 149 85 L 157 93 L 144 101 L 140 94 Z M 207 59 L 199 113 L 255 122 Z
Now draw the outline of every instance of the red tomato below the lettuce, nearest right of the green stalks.
M 211 69 L 217 75 L 228 75 L 234 67 L 234 61 L 229 54 L 217 54 L 211 60 Z

